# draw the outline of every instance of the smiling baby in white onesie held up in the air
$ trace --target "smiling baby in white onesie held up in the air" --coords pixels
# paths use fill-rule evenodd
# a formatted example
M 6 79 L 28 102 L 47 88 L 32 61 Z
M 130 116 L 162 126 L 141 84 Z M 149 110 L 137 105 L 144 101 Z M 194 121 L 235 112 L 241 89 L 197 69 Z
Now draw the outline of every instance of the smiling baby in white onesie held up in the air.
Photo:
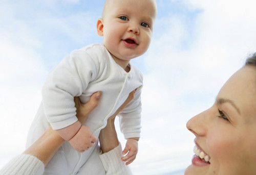
M 122 160 L 129 164 L 135 159 L 141 128 L 142 74 L 130 60 L 146 52 L 156 15 L 155 0 L 106 0 L 102 18 L 97 21 L 97 34 L 103 37 L 103 44 L 71 52 L 50 71 L 27 146 L 49 123 L 68 142 L 55 154 L 46 172 L 76 174 L 98 168 L 98 146 L 93 140 L 129 93 L 137 89 L 134 99 L 118 114 L 127 140 L 123 154 L 128 154 Z M 76 118 L 74 96 L 86 103 L 96 91 L 102 91 L 101 101 L 82 125 Z

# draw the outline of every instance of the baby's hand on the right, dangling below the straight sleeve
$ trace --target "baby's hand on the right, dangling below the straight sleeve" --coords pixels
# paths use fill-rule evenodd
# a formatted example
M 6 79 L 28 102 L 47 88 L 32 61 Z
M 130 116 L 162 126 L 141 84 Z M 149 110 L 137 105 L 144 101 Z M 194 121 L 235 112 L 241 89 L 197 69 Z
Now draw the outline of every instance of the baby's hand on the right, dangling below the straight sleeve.
M 122 157 L 122 161 L 126 162 L 125 165 L 129 165 L 130 163 L 132 163 L 135 160 L 137 153 L 138 153 L 138 139 L 137 138 L 127 139 L 125 148 L 123 149 L 123 152 L 122 152 L 123 155 L 126 154 L 124 157 Z

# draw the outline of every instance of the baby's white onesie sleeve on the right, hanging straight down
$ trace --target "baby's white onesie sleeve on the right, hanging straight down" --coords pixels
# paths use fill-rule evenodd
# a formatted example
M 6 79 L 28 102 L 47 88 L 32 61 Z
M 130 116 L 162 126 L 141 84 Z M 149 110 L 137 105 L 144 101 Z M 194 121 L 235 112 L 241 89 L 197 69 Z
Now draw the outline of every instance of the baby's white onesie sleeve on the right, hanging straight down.
M 141 89 L 136 91 L 134 99 L 118 114 L 120 130 L 125 139 L 140 137 Z

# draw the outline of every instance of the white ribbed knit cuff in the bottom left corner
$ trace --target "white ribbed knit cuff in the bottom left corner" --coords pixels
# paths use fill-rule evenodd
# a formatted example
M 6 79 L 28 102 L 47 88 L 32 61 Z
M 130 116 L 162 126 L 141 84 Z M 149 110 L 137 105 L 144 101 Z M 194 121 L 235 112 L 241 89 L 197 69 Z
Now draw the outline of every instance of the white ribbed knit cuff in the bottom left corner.
M 34 156 L 18 155 L 8 162 L 1 170 L 0 174 L 5 175 L 41 175 L 44 173 L 45 165 Z

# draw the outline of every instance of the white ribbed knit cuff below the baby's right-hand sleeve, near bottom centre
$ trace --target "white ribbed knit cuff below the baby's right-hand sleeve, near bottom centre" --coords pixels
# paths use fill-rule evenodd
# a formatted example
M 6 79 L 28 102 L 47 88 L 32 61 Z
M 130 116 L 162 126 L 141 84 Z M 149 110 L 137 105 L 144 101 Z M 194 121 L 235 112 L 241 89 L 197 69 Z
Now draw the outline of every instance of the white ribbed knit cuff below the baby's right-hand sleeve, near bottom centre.
M 106 175 L 132 175 L 131 169 L 129 166 L 125 165 L 125 162 L 121 160 L 121 157 L 123 157 L 123 155 L 120 143 L 111 151 L 99 155 L 106 171 Z

